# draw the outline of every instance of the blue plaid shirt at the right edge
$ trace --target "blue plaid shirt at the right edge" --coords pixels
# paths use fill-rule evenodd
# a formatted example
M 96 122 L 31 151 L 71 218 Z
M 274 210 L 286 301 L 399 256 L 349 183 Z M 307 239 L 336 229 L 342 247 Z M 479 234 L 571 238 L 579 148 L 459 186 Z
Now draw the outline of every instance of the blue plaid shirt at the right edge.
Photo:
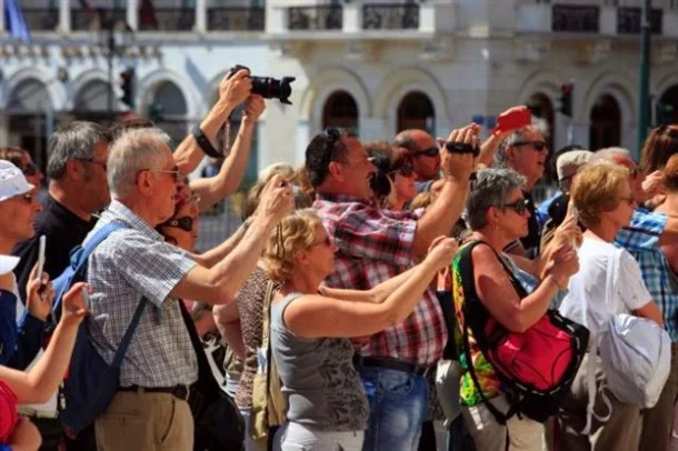
M 659 248 L 659 237 L 666 221 L 664 213 L 636 209 L 630 225 L 617 234 L 615 243 L 628 250 L 638 261 L 642 281 L 661 310 L 666 330 L 671 341 L 678 342 L 678 292 L 669 280 L 671 268 Z

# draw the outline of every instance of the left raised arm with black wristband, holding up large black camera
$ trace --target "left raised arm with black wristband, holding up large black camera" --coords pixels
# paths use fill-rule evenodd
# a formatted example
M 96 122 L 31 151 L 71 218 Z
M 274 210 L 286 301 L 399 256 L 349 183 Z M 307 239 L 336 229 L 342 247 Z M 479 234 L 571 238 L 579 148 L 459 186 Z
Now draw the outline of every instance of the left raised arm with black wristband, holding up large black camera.
M 236 107 L 247 99 L 252 90 L 252 81 L 247 70 L 239 70 L 230 79 L 228 78 L 229 74 L 230 72 L 219 84 L 219 100 L 217 100 L 217 103 L 215 103 L 209 113 L 207 113 L 207 117 L 200 122 L 200 129 L 212 146 L 217 140 L 217 133 L 223 127 L 228 117 Z M 177 147 L 173 158 L 179 170 L 183 173 L 189 173 L 198 168 L 198 164 L 205 158 L 205 152 L 198 146 L 193 134 L 189 133 Z

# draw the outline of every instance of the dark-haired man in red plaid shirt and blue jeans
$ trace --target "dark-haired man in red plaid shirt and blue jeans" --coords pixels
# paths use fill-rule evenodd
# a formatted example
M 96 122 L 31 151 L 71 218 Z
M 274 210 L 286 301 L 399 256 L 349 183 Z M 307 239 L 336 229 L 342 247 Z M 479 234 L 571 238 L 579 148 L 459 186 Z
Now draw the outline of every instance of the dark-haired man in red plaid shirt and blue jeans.
M 477 132 L 473 126 L 455 130 L 449 141 L 476 146 Z M 339 248 L 328 285 L 372 288 L 412 267 L 436 237 L 450 233 L 466 203 L 473 157 L 442 148 L 440 158 L 442 189 L 419 218 L 380 210 L 371 201 L 375 167 L 356 137 L 328 129 L 311 140 L 306 169 L 317 193 L 313 208 Z M 428 404 L 423 377 L 441 358 L 447 338 L 442 311 L 428 290 L 405 322 L 363 345 L 358 370 L 370 402 L 365 450 L 417 449 Z

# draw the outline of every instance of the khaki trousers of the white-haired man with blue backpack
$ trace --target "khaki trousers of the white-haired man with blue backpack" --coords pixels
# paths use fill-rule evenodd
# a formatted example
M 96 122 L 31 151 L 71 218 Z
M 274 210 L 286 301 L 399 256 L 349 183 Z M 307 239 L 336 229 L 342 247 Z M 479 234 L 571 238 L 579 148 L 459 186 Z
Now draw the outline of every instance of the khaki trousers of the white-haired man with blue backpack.
M 191 451 L 193 417 L 170 393 L 119 391 L 94 423 L 99 451 Z

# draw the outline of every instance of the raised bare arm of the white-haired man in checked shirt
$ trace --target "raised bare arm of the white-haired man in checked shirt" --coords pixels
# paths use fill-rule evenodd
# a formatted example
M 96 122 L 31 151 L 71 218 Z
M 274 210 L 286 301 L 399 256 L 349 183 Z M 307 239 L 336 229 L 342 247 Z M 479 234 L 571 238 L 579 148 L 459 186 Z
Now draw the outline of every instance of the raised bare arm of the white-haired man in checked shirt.
M 275 176 L 266 186 L 252 224 L 233 250 L 212 268 L 193 267 L 172 289 L 172 297 L 209 304 L 233 300 L 257 265 L 273 228 L 293 208 L 291 186 L 283 184 L 283 181 L 282 177 Z

